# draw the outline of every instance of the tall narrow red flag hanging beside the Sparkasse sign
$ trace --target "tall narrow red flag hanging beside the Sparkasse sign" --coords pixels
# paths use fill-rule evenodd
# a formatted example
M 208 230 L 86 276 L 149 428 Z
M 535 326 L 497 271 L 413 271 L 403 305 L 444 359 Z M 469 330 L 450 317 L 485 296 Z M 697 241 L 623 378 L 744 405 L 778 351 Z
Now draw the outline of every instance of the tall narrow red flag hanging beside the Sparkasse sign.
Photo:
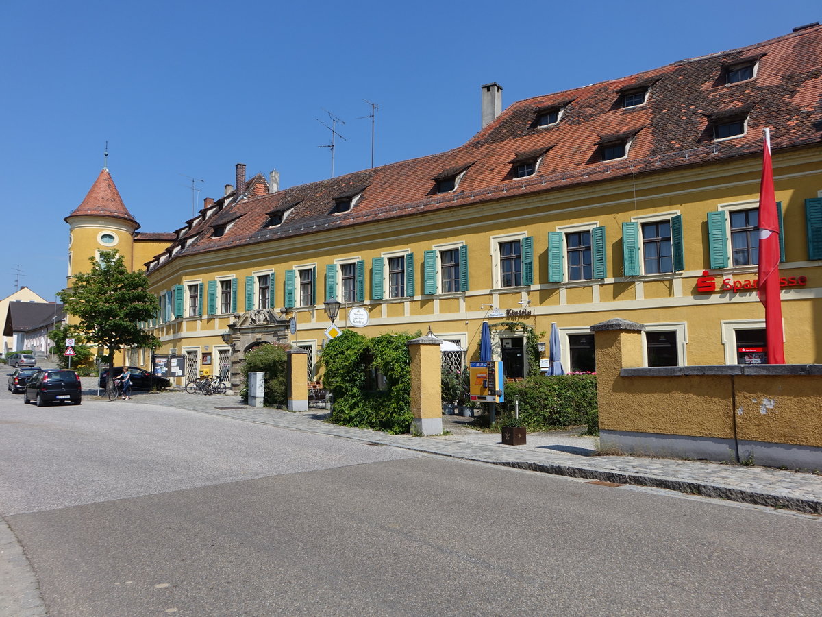
M 770 130 L 764 129 L 760 183 L 760 260 L 757 295 L 765 308 L 768 364 L 785 364 L 782 301 L 779 297 L 779 219 L 774 196 L 774 169 L 770 158 Z

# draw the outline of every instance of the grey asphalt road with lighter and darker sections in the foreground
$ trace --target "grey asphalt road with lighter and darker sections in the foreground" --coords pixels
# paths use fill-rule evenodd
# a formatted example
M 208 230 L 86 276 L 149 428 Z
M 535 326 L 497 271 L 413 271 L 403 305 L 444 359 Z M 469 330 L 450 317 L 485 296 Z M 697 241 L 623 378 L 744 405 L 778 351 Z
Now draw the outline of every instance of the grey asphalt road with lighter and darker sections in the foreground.
M 5 391 L 0 465 L 48 615 L 822 614 L 820 517 Z

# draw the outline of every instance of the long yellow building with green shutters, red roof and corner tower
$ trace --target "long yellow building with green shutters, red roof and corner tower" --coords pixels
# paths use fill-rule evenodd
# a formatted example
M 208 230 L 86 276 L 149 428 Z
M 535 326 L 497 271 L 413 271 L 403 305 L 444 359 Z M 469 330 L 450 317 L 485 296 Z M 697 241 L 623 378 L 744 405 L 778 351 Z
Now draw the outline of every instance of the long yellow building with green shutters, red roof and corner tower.
M 483 128 L 455 150 L 283 189 L 238 165 L 234 186 L 169 242 L 141 244 L 130 215 L 88 218 L 81 206 L 67 219 L 70 262 L 110 246 L 133 267 L 145 259 L 157 353 L 184 355 L 189 376 L 232 364 L 236 380 L 261 341 L 291 341 L 315 361 L 326 299 L 343 303 L 340 327 L 363 308 L 367 336 L 430 326 L 469 356 L 483 320 L 496 323 L 509 377 L 533 369 L 528 332 L 547 341 L 552 322 L 566 370 L 594 369 L 589 327 L 615 316 L 647 326 L 645 365 L 757 362 L 769 127 L 786 360 L 819 363 L 820 66 L 822 27 L 810 26 L 504 110 L 488 84 Z M 118 244 L 101 245 L 105 234 Z M 130 362 L 150 356 L 133 350 Z

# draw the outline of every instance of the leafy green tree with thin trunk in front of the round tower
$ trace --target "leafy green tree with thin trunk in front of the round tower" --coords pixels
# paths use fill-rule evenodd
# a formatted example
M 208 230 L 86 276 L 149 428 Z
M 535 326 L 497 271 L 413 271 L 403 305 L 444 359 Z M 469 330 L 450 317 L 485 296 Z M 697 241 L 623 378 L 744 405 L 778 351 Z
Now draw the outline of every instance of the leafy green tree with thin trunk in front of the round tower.
M 148 291 L 145 272 L 130 272 L 118 251 L 101 251 L 99 260 L 89 257 L 90 272 L 74 276 L 74 285 L 58 293 L 66 312 L 80 320 L 77 330 L 85 340 L 103 347 L 109 369 L 114 353 L 127 346 L 154 348 L 159 340 L 139 322 L 154 318 L 159 304 Z M 109 381 L 113 370 L 109 370 Z

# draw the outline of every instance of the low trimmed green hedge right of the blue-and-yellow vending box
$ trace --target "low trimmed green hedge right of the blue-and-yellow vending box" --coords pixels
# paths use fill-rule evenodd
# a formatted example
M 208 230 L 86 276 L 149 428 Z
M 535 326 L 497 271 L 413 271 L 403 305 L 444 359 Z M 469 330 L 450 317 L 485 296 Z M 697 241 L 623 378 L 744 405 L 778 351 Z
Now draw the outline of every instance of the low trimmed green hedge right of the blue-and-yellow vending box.
M 584 424 L 598 434 L 597 378 L 595 375 L 558 375 L 525 378 L 506 383 L 506 402 L 497 406 L 501 426 L 532 430 L 561 429 Z M 520 398 L 520 418 L 514 401 Z

